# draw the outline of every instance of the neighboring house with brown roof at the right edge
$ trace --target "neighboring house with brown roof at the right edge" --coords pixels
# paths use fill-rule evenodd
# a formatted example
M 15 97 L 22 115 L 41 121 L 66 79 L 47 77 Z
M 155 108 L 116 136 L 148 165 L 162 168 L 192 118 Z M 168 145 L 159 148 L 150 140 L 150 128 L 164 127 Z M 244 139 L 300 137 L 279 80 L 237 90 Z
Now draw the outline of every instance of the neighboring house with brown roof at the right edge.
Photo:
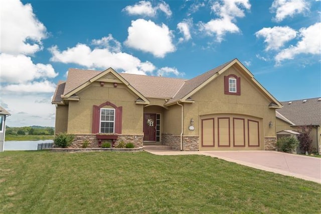
M 282 109 L 276 110 L 276 131 L 293 130 L 300 126 L 311 126 L 312 150 L 321 152 L 321 98 L 281 102 Z

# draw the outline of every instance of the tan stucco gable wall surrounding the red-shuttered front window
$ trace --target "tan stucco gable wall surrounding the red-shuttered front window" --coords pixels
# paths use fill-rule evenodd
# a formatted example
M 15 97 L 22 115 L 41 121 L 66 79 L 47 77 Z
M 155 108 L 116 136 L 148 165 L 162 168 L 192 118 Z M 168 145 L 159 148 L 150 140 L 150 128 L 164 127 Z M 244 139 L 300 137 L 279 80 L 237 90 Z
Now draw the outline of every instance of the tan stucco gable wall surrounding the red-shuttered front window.
M 126 86 L 118 84 L 114 88 L 113 84 L 105 83 L 101 87 L 99 83 L 93 83 L 77 96 L 80 97 L 79 101 L 69 102 L 69 133 L 91 133 L 93 105 L 99 106 L 109 101 L 117 107 L 122 106 L 122 134 L 142 134 L 143 105 L 135 104 L 138 97 Z

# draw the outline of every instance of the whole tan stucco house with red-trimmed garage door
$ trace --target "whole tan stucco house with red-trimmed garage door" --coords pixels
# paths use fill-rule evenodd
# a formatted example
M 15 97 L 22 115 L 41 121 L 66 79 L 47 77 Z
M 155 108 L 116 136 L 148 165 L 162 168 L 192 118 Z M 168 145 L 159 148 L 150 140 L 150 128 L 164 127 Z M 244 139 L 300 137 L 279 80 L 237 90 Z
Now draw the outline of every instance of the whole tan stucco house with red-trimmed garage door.
M 190 80 L 69 69 L 52 103 L 55 132 L 75 134 L 72 147 L 103 138 L 181 150 L 275 150 L 282 107 L 237 59 Z

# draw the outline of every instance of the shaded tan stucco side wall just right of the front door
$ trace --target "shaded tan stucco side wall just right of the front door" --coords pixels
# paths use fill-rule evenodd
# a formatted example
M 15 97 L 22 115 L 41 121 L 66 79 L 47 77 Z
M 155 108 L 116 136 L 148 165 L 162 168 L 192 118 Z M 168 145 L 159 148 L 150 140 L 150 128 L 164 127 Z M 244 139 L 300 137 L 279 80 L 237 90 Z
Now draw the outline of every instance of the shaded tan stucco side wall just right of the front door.
M 182 108 L 179 105 L 169 106 L 169 110 L 164 111 L 163 132 L 180 135 L 182 130 Z

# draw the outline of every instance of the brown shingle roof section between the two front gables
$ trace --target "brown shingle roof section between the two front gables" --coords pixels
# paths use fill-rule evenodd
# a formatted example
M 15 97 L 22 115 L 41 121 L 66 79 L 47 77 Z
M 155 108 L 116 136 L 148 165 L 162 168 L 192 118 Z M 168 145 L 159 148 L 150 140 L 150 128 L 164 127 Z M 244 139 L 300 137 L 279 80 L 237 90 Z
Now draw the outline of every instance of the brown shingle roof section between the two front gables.
M 184 79 L 125 73 L 121 73 L 120 76 L 127 80 L 144 97 L 149 98 L 172 98 L 184 82 L 187 81 Z

